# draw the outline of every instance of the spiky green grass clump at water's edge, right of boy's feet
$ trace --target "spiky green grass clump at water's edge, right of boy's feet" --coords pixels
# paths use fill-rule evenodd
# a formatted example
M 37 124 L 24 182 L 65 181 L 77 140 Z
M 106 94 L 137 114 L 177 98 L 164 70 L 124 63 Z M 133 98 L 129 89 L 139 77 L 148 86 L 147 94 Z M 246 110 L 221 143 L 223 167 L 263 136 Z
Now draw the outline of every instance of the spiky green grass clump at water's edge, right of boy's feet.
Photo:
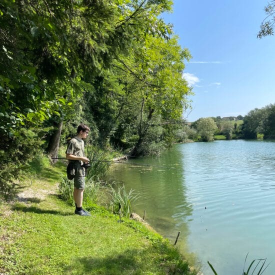
M 109 188 L 110 200 L 107 208 L 111 213 L 121 214 L 122 216 L 129 217 L 132 211 L 132 203 L 139 198 L 139 195 L 130 189 L 127 193 L 125 186 L 118 187 L 115 190 L 113 187 Z

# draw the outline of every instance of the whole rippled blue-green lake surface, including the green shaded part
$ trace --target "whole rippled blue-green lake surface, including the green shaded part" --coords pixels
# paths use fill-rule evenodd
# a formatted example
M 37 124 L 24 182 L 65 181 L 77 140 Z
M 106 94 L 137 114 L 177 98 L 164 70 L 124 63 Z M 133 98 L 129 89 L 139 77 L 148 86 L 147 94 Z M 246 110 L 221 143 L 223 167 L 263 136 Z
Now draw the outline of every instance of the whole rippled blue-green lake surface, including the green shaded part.
M 219 275 L 241 274 L 247 253 L 246 267 L 267 258 L 264 274 L 275 274 L 275 140 L 175 144 L 128 162 L 110 178 L 139 193 L 134 212 L 145 210 L 171 243 L 180 231 L 176 246 L 194 253 L 204 275 L 213 274 L 207 261 Z

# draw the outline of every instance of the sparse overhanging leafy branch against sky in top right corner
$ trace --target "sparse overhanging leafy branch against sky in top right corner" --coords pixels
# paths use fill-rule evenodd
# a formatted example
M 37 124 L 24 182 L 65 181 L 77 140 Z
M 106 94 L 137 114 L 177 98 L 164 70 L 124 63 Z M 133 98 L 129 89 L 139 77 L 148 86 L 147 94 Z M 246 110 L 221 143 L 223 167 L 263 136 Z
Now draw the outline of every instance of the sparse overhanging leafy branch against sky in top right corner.
M 275 0 L 271 0 L 265 7 L 264 11 L 266 17 L 262 20 L 260 24 L 260 30 L 257 34 L 257 38 L 262 38 L 267 35 L 273 35 L 274 24 L 275 24 Z

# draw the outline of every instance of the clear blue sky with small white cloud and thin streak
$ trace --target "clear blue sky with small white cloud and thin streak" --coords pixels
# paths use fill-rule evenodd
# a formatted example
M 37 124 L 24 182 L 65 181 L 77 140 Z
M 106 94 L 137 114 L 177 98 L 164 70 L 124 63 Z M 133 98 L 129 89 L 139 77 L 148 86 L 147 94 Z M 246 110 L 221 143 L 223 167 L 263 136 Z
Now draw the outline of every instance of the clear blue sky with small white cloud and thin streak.
M 162 17 L 192 55 L 183 74 L 195 93 L 188 121 L 244 116 L 275 103 L 275 36 L 256 37 L 267 0 L 173 2 Z

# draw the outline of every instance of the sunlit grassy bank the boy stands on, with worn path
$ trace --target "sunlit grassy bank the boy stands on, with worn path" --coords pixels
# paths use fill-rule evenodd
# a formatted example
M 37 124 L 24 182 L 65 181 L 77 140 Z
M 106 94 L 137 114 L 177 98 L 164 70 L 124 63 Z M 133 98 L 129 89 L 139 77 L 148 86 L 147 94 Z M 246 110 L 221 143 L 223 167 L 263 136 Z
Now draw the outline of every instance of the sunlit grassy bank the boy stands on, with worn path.
M 17 199 L 0 203 L 0 274 L 197 274 L 137 221 L 120 223 L 98 205 L 90 217 L 73 214 L 57 194 L 64 170 L 32 166 Z

